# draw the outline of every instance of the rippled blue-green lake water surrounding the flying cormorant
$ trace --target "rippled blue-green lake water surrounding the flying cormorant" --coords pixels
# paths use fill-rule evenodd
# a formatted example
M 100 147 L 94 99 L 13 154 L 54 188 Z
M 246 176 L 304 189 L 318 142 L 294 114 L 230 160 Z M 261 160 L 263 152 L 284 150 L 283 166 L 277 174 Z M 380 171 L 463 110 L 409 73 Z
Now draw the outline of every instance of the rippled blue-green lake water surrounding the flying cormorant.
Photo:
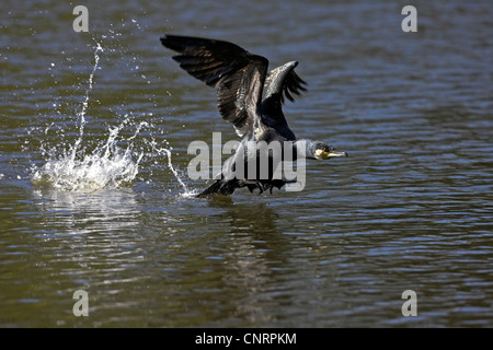
M 415 33 L 389 1 L 85 1 L 89 33 L 4 3 L 0 326 L 493 326 L 491 1 L 414 2 Z M 236 135 L 165 33 L 298 60 L 290 127 L 349 158 L 188 196 L 190 142 Z

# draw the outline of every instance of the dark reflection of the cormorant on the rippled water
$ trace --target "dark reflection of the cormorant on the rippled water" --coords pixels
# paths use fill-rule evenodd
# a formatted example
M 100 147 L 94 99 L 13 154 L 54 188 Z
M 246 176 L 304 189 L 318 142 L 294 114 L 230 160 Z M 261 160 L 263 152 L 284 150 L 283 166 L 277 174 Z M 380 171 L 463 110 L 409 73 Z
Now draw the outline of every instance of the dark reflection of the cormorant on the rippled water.
M 219 196 L 218 196 L 219 197 Z M 234 203 L 230 197 L 214 199 L 211 206 L 228 209 L 217 215 L 229 222 L 229 234 L 221 237 L 221 276 L 230 305 L 229 318 L 268 323 L 276 317 L 272 307 L 293 303 L 289 293 L 290 268 L 287 254 L 293 237 L 277 226 L 279 215 L 263 202 Z M 276 307 L 274 307 L 276 308 Z

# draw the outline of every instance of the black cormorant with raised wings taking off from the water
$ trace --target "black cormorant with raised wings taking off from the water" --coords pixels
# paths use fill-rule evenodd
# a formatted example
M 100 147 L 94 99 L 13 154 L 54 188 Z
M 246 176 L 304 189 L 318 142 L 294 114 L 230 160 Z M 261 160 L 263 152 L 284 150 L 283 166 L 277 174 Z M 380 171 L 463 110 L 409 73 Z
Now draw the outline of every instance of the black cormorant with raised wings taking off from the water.
M 231 195 L 240 187 L 260 192 L 283 187 L 290 180 L 274 175 L 278 163 L 286 160 L 285 144 L 291 148 L 293 156 L 288 160 L 293 161 L 300 154 L 316 160 L 347 156 L 346 152 L 321 141 L 297 140 L 289 129 L 282 109 L 284 100 L 294 102 L 293 94 L 306 91 L 306 82 L 295 72 L 297 61 L 267 72 L 266 58 L 228 42 L 165 35 L 161 43 L 179 52 L 173 59 L 181 68 L 217 89 L 219 113 L 243 138 L 234 154 L 225 162 L 220 178 L 198 197 L 216 192 Z M 272 148 L 276 142 L 282 147 Z M 260 144 L 264 147 L 257 147 Z M 252 145 L 257 147 L 255 152 L 251 151 Z M 262 168 L 265 163 L 261 163 L 260 158 L 264 154 L 268 170 Z M 255 173 L 248 174 L 252 162 L 256 165 Z M 239 165 L 244 165 L 243 170 Z M 265 173 L 260 174 L 262 171 Z

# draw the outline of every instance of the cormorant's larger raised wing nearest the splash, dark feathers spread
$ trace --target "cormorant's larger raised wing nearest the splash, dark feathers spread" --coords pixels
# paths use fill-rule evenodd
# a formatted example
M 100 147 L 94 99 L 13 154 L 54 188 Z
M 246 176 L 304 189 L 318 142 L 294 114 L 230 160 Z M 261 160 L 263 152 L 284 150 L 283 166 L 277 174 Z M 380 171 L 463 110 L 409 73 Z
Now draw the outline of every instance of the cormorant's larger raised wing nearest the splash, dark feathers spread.
M 222 40 L 165 35 L 161 43 L 179 52 L 173 59 L 181 68 L 217 88 L 222 118 L 245 135 L 257 118 L 268 60 Z

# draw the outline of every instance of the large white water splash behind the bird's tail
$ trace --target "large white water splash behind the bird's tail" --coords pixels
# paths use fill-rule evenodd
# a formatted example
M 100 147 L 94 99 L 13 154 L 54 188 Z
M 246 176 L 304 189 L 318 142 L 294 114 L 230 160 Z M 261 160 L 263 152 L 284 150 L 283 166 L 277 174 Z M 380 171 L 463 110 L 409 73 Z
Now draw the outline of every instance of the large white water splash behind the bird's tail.
M 171 151 L 167 148 L 159 148 L 152 133 L 150 133 L 150 137 L 141 136 L 142 128 L 150 129 L 153 127 L 150 122 L 140 121 L 136 124 L 134 116 L 125 115 L 124 120 L 118 126 L 108 127 L 105 141 L 98 143 L 92 151 L 88 151 L 88 144 L 84 144 L 85 114 L 101 52 L 104 52 L 104 49 L 101 44 L 96 43 L 94 67 L 89 75 L 89 86 L 85 91 L 81 109 L 76 114 L 78 118 L 78 137 L 76 141 L 73 144 L 59 143 L 48 150 L 42 144 L 41 151 L 47 160 L 41 167 L 32 166 L 32 183 L 77 192 L 127 187 L 136 179 L 140 162 L 145 156 L 165 155 L 169 168 L 184 190 L 183 196 L 190 196 L 192 192 L 171 162 Z M 152 114 L 142 114 L 139 117 L 147 118 L 149 116 L 152 116 Z M 128 127 L 135 128 L 134 133 L 127 138 L 122 137 L 121 135 L 123 131 L 127 131 Z M 47 130 L 45 130 L 46 132 Z M 142 147 L 142 141 L 147 147 Z

